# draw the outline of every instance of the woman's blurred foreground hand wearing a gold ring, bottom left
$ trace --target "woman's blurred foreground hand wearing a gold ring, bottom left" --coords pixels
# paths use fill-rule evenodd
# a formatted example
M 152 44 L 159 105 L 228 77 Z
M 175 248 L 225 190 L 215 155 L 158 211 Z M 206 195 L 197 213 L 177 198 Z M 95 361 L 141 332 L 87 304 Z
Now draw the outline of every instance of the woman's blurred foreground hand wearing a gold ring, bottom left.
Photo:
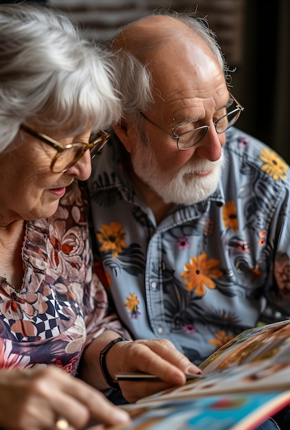
M 55 430 L 58 418 L 83 429 L 91 418 L 117 425 L 129 415 L 102 393 L 52 365 L 0 371 L 0 423 L 5 430 Z

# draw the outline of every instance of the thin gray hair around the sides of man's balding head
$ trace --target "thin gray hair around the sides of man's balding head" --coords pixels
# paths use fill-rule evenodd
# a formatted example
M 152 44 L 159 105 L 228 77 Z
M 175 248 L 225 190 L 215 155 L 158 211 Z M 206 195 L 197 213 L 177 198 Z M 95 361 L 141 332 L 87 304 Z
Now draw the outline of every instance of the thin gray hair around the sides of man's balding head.
M 144 16 L 142 19 L 159 14 L 161 14 L 161 12 L 153 12 L 153 14 Z M 183 22 L 198 34 L 208 47 L 210 47 L 212 53 L 218 60 L 225 74 L 225 80 L 230 80 L 229 69 L 221 52 L 221 47 L 205 19 L 178 12 L 162 12 L 162 14 Z M 117 38 L 120 37 L 122 39 L 122 32 L 134 24 L 134 22 L 124 26 L 117 35 Z M 170 38 L 170 35 L 164 32 L 164 41 L 166 41 L 166 38 Z M 148 41 L 142 44 L 142 41 L 140 41 L 140 45 L 138 45 L 136 49 L 132 49 L 131 47 L 131 49 L 128 50 L 124 49 L 124 47 L 120 48 L 118 42 L 115 43 L 115 40 L 111 43 L 111 49 L 116 54 L 113 61 L 115 63 L 115 69 L 118 71 L 120 93 L 122 93 L 122 115 L 123 117 L 128 117 L 128 115 L 136 113 L 134 118 L 137 121 L 137 127 L 140 126 L 140 120 L 138 120 L 140 115 L 137 115 L 137 112 L 146 111 L 154 105 L 152 77 L 147 67 L 148 64 L 144 64 L 142 58 L 146 58 L 146 54 L 152 53 L 154 49 L 159 47 L 160 38 L 152 34 L 149 42 L 147 42 Z

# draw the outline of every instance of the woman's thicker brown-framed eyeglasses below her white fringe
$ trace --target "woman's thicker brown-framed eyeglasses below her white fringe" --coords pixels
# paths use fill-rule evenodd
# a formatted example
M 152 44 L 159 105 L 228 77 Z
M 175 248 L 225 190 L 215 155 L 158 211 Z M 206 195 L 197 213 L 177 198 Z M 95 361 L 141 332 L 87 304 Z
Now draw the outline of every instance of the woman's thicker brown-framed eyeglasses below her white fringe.
M 66 172 L 67 169 L 74 166 L 74 164 L 88 149 L 90 150 L 91 158 L 95 157 L 96 153 L 104 148 L 104 145 L 107 144 L 110 137 L 108 133 L 101 130 L 98 133 L 91 135 L 88 144 L 85 142 L 76 142 L 63 146 L 57 140 L 52 139 L 52 137 L 44 135 L 43 133 L 38 133 L 38 131 L 34 131 L 32 128 L 24 124 L 21 124 L 20 128 L 25 131 L 25 133 L 36 137 L 36 139 L 52 146 L 52 148 L 56 150 L 56 155 L 54 156 L 54 159 L 52 159 L 52 163 L 50 165 L 50 170 L 54 173 Z

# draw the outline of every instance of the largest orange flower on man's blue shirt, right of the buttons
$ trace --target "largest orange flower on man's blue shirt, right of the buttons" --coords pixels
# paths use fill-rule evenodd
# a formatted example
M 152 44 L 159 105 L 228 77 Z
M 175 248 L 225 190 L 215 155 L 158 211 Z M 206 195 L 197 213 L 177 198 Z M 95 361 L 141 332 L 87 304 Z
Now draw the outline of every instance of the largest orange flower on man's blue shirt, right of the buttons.
M 215 267 L 219 260 L 210 258 L 206 253 L 201 253 L 199 257 L 190 258 L 190 263 L 184 265 L 185 272 L 181 273 L 181 278 L 186 279 L 186 289 L 192 291 L 195 289 L 197 295 L 205 295 L 207 286 L 214 289 L 216 284 L 212 278 L 220 278 L 223 272 Z

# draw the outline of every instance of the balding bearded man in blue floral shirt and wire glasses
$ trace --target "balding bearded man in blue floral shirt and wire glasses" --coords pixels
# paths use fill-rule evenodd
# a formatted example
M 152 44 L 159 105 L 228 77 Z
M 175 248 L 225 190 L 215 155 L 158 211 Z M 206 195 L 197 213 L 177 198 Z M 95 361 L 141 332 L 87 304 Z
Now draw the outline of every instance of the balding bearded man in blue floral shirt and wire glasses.
M 133 338 L 199 364 L 290 315 L 288 166 L 232 127 L 243 106 L 203 21 L 147 16 L 112 49 L 123 118 L 89 179 L 96 264 Z

